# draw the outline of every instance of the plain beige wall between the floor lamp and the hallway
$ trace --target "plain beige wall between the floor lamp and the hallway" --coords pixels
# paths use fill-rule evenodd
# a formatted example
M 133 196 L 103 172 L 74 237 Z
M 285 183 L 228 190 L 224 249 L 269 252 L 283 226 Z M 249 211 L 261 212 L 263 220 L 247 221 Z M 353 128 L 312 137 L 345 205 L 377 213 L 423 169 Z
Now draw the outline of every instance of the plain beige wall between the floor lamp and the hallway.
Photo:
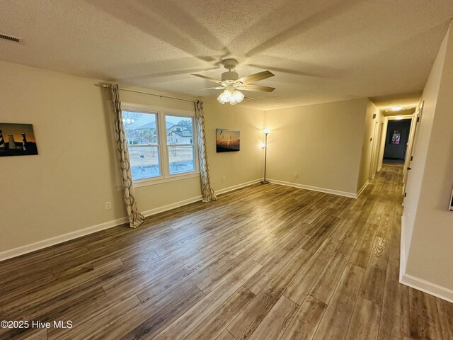
M 355 195 L 368 103 L 362 98 L 266 111 L 268 178 Z

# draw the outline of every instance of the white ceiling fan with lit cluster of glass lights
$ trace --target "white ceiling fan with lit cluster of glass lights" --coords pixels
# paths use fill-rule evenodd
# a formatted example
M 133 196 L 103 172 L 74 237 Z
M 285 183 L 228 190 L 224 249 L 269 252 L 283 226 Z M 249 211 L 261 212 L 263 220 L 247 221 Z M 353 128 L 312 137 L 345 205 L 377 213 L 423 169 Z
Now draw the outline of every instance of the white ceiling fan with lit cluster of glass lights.
M 209 89 L 216 89 L 216 90 L 224 90 L 222 94 L 217 98 L 219 103 L 230 103 L 231 105 L 235 105 L 237 103 L 241 103 L 245 96 L 239 91 L 259 91 L 259 92 L 272 92 L 275 90 L 273 87 L 269 86 L 260 86 L 260 85 L 253 85 L 251 83 L 255 83 L 256 81 L 260 81 L 263 79 L 268 79 L 273 77 L 274 74 L 270 71 L 263 71 L 258 72 L 255 74 L 250 74 L 246 77 L 239 78 L 239 74 L 237 72 L 231 71 L 236 67 L 238 62 L 234 59 L 226 59 L 222 62 L 224 67 L 228 69 L 228 72 L 222 73 L 222 80 L 217 80 L 211 77 L 203 76 L 202 74 L 192 74 L 195 77 L 200 77 L 202 79 L 207 79 L 209 81 L 214 81 L 214 83 L 219 84 L 216 87 L 210 87 L 205 90 Z

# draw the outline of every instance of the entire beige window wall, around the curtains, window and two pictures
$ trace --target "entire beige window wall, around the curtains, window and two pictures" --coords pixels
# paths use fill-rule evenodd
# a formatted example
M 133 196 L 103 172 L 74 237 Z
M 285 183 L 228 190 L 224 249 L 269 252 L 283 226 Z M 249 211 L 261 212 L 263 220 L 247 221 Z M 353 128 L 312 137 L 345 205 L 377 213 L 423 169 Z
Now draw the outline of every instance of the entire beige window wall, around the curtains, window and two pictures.
M 65 234 L 122 220 L 126 213 L 108 91 L 96 86 L 97 79 L 7 62 L 0 62 L 0 74 L 0 121 L 33 124 L 39 152 L 1 157 L 0 253 L 9 256 L 21 246 L 30 251 L 61 242 Z M 193 111 L 193 103 L 126 91 L 120 96 L 123 102 Z M 259 179 L 263 112 L 207 103 L 205 115 L 214 188 Z M 241 130 L 241 151 L 215 154 L 215 128 Z M 200 180 L 143 186 L 136 194 L 139 210 L 152 212 L 197 198 Z M 105 210 L 105 201 L 112 203 L 111 210 Z

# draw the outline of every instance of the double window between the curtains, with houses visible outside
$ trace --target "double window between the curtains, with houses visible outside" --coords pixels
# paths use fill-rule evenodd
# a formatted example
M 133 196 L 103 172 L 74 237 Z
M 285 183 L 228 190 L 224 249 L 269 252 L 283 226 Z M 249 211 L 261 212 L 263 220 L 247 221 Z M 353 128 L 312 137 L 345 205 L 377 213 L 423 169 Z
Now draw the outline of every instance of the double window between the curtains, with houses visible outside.
M 132 179 L 136 183 L 195 174 L 193 113 L 166 113 L 123 105 Z

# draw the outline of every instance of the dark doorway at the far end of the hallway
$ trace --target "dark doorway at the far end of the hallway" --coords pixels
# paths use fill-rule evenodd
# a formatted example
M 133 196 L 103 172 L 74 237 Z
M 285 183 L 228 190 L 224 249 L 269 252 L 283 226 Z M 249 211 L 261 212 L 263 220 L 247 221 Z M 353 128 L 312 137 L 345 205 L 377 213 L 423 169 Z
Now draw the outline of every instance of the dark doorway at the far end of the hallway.
M 389 120 L 384 147 L 385 163 L 404 165 L 411 122 L 411 119 Z

